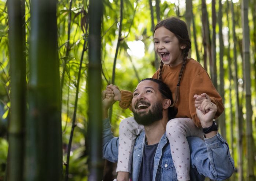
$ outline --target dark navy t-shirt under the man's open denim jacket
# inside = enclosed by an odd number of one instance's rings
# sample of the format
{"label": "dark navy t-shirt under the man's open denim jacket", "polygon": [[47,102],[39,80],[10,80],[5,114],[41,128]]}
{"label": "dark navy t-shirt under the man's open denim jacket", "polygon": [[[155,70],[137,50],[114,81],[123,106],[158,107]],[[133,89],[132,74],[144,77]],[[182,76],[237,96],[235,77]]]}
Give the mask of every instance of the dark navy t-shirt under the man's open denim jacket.
{"label": "dark navy t-shirt under the man's open denim jacket", "polygon": [[153,168],[154,168],[154,157],[157,151],[157,144],[145,145],[142,164],[140,166],[139,181],[152,181],[153,180]]}

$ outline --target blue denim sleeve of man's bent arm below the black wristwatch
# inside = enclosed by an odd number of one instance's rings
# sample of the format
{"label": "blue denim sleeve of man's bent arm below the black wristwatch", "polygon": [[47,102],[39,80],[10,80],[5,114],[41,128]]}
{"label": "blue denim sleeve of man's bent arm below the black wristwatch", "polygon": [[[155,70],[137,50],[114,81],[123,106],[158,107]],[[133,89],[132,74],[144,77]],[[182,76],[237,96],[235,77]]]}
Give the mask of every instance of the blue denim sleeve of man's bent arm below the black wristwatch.
{"label": "blue denim sleeve of man's bent arm below the black wristwatch", "polygon": [[191,152],[191,167],[212,180],[225,180],[234,173],[234,160],[225,139],[219,133],[205,142],[187,137]]}

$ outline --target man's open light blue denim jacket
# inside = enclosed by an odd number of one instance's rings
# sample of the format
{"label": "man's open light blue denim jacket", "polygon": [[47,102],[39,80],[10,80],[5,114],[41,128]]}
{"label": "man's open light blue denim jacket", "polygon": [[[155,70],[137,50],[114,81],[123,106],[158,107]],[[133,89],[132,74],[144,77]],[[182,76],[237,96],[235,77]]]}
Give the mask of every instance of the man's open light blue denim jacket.
{"label": "man's open light blue denim jacket", "polygon": [[[143,131],[135,141],[132,181],[138,181],[139,178],[145,139],[146,134]],[[212,138],[205,138],[205,142],[197,137],[187,137],[187,139],[191,153],[191,181],[204,181],[205,177],[212,180],[225,180],[232,175],[234,161],[225,139],[219,133]],[[111,162],[118,160],[118,137],[113,136],[108,118],[103,120],[103,158]],[[163,134],[155,153],[153,181],[177,181],[166,134]]]}

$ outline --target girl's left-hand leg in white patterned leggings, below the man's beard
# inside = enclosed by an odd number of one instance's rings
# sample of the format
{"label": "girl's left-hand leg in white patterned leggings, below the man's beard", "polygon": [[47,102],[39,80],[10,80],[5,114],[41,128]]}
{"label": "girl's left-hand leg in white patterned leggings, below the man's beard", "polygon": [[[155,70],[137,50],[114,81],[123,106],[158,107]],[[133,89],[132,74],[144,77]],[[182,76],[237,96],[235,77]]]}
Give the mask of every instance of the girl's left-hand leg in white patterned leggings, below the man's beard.
{"label": "girl's left-hand leg in white patterned leggings, below the man's beard", "polygon": [[144,130],[133,117],[125,118],[119,125],[118,162],[116,172],[131,173],[132,151],[137,135]]}

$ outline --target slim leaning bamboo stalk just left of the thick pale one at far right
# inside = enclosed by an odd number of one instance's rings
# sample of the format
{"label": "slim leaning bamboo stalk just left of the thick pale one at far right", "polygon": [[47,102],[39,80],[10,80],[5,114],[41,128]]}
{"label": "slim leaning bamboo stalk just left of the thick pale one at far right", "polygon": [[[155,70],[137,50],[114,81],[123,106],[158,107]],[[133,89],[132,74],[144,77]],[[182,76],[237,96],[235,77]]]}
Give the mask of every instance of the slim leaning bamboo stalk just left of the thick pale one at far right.
{"label": "slim leaning bamboo stalk just left of the thick pale one at far right", "polygon": [[235,19],[234,19],[234,4],[231,2],[231,13],[232,13],[232,31],[233,31],[233,42],[234,42],[234,66],[235,66],[235,76],[234,76],[234,86],[236,90],[236,125],[237,125],[237,150],[238,150],[238,181],[243,181],[243,149],[242,149],[242,131],[243,131],[243,118],[241,114],[239,93],[238,93],[238,75],[237,75],[237,49],[236,49],[236,31],[235,31]]}

